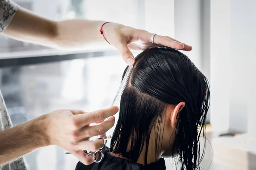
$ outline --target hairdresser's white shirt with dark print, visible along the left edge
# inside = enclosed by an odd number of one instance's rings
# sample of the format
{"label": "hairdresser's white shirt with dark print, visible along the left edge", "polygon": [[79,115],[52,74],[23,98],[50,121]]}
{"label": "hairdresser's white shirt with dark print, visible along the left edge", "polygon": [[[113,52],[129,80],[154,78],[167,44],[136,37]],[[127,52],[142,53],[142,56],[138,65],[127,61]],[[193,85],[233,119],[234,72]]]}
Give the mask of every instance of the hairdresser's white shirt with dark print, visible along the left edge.
{"label": "hairdresser's white shirt with dark print, visible along the left edge", "polygon": [[[0,0],[0,33],[9,25],[19,6],[9,0]],[[0,91],[0,131],[12,127],[12,121]],[[1,137],[1,136],[0,136]],[[0,167],[0,170],[29,170],[23,157]]]}

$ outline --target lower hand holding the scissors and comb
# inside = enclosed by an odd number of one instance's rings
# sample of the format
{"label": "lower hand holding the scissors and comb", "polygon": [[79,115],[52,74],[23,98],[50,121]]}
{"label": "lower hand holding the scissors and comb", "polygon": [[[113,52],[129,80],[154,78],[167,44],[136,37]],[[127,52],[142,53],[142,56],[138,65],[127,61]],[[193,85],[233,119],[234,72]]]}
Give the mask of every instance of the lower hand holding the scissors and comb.
{"label": "lower hand holding the scissors and comb", "polygon": [[[113,127],[114,114],[118,107],[112,106],[107,109],[85,113],[81,110],[58,110],[47,115],[47,136],[50,144],[56,144],[76,156],[83,164],[91,164],[92,156],[84,153],[99,150],[103,145],[102,139],[90,141],[90,137],[104,136]],[[105,120],[108,118],[108,120]],[[104,121],[105,120],[105,121]],[[91,123],[100,123],[90,126]]]}

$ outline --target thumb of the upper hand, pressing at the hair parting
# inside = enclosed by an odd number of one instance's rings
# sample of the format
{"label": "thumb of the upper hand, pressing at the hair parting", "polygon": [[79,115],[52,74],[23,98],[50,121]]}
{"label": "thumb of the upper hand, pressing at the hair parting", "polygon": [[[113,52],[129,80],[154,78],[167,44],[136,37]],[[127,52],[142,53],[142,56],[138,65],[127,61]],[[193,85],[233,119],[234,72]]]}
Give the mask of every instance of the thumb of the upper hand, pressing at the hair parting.
{"label": "thumb of the upper hand, pressing at the hair parting", "polygon": [[116,49],[121,54],[123,60],[126,62],[127,65],[133,65],[135,62],[134,56],[127,47],[127,42],[125,40],[122,40],[120,42],[117,42],[115,45]]}

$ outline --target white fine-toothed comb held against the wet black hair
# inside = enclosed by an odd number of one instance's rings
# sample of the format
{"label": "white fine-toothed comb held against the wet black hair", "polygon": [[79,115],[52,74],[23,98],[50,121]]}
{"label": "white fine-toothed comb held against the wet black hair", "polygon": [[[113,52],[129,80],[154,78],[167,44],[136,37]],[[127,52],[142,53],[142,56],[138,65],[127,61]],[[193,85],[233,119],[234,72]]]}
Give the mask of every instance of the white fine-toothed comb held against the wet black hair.
{"label": "white fine-toothed comb held against the wet black hair", "polygon": [[117,102],[121,99],[121,96],[122,96],[122,94],[123,94],[123,92],[125,90],[125,87],[126,87],[127,83],[128,83],[128,79],[131,76],[132,68],[133,68],[132,65],[128,67],[128,69],[127,69],[127,71],[125,73],[125,76],[122,79],[121,85],[120,85],[120,87],[119,87],[119,89],[118,89],[118,91],[116,93],[116,96],[115,96],[115,98],[113,100],[112,106],[117,105]]}

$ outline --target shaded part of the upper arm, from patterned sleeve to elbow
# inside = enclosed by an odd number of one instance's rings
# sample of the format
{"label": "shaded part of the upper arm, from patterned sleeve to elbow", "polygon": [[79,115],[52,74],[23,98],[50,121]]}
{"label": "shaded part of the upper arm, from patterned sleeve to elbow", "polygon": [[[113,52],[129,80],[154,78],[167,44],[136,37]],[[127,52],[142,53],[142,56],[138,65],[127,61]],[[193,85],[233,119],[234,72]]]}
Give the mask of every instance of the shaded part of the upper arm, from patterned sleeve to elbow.
{"label": "shaded part of the upper arm, from patterned sleeve to elbow", "polygon": [[23,42],[56,47],[52,38],[56,36],[55,22],[19,8],[11,23],[3,31],[7,37]]}

